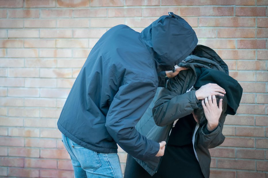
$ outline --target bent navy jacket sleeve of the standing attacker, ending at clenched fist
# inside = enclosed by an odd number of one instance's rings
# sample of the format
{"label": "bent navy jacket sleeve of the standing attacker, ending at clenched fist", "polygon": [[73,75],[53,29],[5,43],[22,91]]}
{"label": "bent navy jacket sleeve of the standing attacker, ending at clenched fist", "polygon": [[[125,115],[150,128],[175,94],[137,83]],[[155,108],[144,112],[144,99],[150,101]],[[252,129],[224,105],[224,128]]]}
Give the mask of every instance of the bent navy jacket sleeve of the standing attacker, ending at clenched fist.
{"label": "bent navy jacket sleeve of the standing attacker, ending at clenched fist", "polygon": [[159,151],[159,143],[146,139],[135,125],[150,105],[157,86],[154,81],[135,77],[120,86],[106,116],[106,128],[114,141],[131,156],[146,160]]}

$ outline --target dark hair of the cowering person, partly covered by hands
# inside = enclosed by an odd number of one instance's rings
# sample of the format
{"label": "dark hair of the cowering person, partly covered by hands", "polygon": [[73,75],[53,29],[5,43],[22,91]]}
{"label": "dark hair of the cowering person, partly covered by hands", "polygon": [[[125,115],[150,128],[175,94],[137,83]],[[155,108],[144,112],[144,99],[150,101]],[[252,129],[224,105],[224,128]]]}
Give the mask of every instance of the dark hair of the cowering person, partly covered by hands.
{"label": "dark hair of the cowering person, partly covered by hands", "polygon": [[[220,99],[222,99],[222,113],[221,113],[221,116],[222,116],[227,109],[227,97],[226,95],[224,96],[216,95],[217,106],[219,106]],[[206,120],[206,116],[205,116],[204,109],[202,106],[202,100],[199,100],[199,103],[197,103],[197,106],[198,108],[194,109],[194,115],[196,116],[196,119],[198,120],[199,126],[202,127],[204,124],[208,122]]]}

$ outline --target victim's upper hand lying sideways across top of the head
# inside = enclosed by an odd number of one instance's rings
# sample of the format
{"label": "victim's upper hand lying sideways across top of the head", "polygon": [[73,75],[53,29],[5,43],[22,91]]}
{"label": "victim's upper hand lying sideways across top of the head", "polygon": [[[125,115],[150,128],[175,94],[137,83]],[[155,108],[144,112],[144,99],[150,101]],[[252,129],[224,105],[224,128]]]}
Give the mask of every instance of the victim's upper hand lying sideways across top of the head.
{"label": "victim's upper hand lying sideways across top of the head", "polygon": [[209,95],[220,95],[220,96],[224,96],[224,94],[226,93],[225,90],[223,88],[221,88],[219,85],[217,84],[206,84],[201,86],[198,90],[196,90],[196,98],[198,100],[200,99],[205,99],[207,98]]}

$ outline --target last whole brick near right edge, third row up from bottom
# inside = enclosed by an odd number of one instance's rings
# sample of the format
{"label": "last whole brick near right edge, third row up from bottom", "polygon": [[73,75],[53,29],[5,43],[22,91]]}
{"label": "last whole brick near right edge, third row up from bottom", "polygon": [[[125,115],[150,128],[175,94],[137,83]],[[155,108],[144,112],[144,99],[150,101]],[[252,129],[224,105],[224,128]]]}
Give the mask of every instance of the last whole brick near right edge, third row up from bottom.
{"label": "last whole brick near right edge, third row up from bottom", "polygon": [[237,149],[236,158],[261,159],[264,160],[264,150]]}

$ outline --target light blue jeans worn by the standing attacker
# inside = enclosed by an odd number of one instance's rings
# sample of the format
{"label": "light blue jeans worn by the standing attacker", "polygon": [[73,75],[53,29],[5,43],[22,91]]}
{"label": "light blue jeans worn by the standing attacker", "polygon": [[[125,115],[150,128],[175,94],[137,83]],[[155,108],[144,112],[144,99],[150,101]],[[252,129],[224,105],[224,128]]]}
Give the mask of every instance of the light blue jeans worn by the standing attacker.
{"label": "light blue jeans worn by the standing attacker", "polygon": [[122,178],[119,157],[116,153],[97,153],[78,145],[62,134],[62,142],[70,154],[76,178]]}

